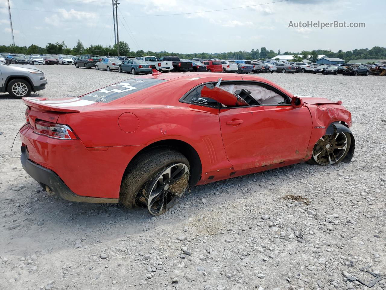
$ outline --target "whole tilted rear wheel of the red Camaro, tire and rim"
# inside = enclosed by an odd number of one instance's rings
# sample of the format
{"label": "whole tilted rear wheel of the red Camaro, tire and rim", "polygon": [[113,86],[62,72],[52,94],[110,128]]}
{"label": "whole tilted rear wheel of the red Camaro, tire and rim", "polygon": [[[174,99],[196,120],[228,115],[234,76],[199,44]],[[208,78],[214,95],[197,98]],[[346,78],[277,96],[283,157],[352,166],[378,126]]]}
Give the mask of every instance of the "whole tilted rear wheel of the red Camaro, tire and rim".
{"label": "whole tilted rear wheel of the red Camaro, tire and rim", "polygon": [[124,177],[120,201],[126,207],[146,206],[152,215],[172,208],[188,188],[189,162],[169,148],[142,154]]}

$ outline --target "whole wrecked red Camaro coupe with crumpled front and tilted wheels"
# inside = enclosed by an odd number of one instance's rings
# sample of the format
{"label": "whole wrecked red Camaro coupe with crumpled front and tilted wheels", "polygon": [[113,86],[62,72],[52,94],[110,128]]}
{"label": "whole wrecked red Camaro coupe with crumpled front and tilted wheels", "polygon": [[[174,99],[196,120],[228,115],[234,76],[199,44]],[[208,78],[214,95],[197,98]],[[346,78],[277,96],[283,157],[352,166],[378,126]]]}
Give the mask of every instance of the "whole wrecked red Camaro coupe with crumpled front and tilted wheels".
{"label": "whole wrecked red Camaro coupe with crumpled front and tilted wheels", "polygon": [[46,191],[152,215],[189,186],[354,154],[342,102],[249,75],[154,71],[76,98],[23,101],[21,162]]}

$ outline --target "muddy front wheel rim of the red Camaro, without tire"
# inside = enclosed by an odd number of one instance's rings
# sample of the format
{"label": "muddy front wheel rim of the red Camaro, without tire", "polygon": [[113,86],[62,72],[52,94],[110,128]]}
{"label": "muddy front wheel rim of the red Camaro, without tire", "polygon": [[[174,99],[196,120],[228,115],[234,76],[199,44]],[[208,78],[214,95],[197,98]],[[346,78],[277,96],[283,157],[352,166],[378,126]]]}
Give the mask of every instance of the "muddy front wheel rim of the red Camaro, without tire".
{"label": "muddy front wheel rim of the red Camaro, without tire", "polygon": [[346,134],[336,132],[318,140],[313,148],[312,158],[320,165],[331,165],[340,161],[348,149]]}

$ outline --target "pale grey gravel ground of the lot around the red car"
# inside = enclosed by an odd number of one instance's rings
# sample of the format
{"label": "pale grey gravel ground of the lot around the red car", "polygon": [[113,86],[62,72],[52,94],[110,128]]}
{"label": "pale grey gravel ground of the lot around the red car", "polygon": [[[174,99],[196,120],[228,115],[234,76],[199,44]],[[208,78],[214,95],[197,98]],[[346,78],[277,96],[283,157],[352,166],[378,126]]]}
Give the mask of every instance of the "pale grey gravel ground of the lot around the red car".
{"label": "pale grey gravel ground of the lot around the red car", "polygon": [[[32,96],[49,98],[132,77],[39,68],[48,85]],[[372,289],[386,289],[385,78],[260,76],[294,94],[342,100],[353,116],[352,162],[198,186],[157,218],[41,191],[20,165],[19,138],[10,151],[25,105],[1,95],[0,289],[367,289],[347,276],[381,277]]]}

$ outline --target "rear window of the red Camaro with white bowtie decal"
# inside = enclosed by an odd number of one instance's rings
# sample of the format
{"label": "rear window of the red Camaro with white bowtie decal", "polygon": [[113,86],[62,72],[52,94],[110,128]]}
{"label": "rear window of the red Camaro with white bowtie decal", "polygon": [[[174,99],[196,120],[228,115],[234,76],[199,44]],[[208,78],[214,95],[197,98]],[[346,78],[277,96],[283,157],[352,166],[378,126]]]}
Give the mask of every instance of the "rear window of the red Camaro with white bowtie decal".
{"label": "rear window of the red Camaro with white bowtie decal", "polygon": [[166,80],[156,78],[129,78],[128,80],[109,85],[79,98],[88,101],[108,103],[163,82],[166,82]]}

